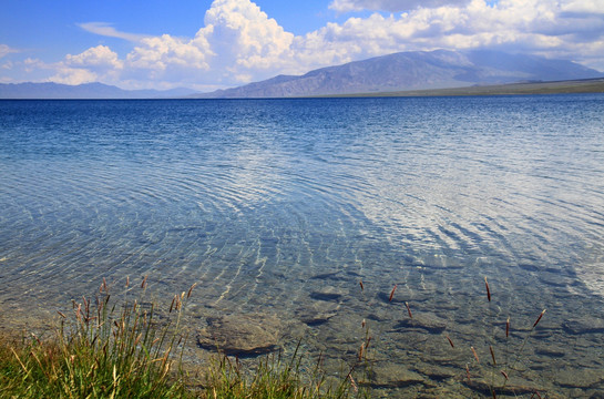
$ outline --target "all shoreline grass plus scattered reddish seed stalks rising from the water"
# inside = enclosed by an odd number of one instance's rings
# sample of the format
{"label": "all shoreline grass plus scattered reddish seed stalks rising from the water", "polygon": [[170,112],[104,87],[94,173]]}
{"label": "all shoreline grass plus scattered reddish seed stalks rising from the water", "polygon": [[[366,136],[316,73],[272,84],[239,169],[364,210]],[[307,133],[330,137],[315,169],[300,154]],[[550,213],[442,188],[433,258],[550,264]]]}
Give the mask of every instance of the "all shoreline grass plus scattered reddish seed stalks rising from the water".
{"label": "all shoreline grass plus scattered reddish seed stalks rising from the water", "polygon": [[[359,280],[361,291],[365,289]],[[72,311],[58,311],[59,326],[49,339],[28,332],[27,338],[0,336],[0,398],[370,398],[375,361],[371,334],[364,319],[360,346],[351,348],[356,360],[342,361],[337,376],[323,368],[323,355],[307,359],[300,338],[293,352],[260,356],[252,362],[217,354],[204,365],[187,365],[183,355],[190,336],[184,321],[187,301],[195,284],[174,295],[170,306],[158,306],[149,295],[146,277],[113,295],[105,279],[94,298],[72,300]],[[397,285],[387,303],[392,304]],[[485,299],[491,309],[491,289],[484,277]],[[165,298],[164,298],[165,299]],[[409,320],[412,305],[405,303]],[[491,338],[487,359],[465,364],[459,388],[470,389],[472,397],[530,397],[546,395],[543,387],[512,385],[522,374],[519,361],[526,360],[523,349],[545,314],[519,331],[523,338],[511,344],[511,324],[491,314],[492,326],[504,326]],[[491,318],[491,317],[490,317]],[[502,335],[504,334],[504,338]],[[451,338],[453,337],[453,338]],[[443,335],[443,347],[455,348],[454,336]],[[499,341],[499,342],[498,342]],[[504,350],[498,348],[504,344]],[[518,345],[516,345],[518,344]],[[475,344],[474,344],[475,345]],[[511,347],[515,349],[511,350]],[[478,348],[478,347],[477,347]],[[502,361],[501,355],[505,354]],[[308,360],[313,360],[310,364]],[[304,362],[303,362],[304,361]],[[314,366],[313,366],[314,365]],[[452,392],[450,392],[452,393]]]}

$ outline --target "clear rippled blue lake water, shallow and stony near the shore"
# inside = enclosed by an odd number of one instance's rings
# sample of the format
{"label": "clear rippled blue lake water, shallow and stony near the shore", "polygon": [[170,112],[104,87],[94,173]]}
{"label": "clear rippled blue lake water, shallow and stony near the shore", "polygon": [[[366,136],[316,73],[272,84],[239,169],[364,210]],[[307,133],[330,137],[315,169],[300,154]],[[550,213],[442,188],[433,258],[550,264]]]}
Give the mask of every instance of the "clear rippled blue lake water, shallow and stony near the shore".
{"label": "clear rippled blue lake water, shallow and stony near the shore", "polygon": [[192,324],[270,313],[350,361],[365,318],[376,395],[436,396],[469,389],[492,320],[547,308],[515,383],[604,389],[602,95],[2,101],[0,209],[2,318],[198,282]]}

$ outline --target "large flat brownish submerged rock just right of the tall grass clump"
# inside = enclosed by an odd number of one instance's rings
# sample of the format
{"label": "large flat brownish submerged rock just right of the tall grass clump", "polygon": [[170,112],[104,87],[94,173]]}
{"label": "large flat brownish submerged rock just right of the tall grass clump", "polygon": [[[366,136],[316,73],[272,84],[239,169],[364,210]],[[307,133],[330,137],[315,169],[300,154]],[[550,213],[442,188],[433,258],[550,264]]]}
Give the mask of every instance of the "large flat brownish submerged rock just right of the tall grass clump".
{"label": "large flat brownish submerged rock just right of the tall grass clump", "polygon": [[226,355],[254,356],[277,349],[281,323],[273,315],[208,317],[197,334],[197,344]]}

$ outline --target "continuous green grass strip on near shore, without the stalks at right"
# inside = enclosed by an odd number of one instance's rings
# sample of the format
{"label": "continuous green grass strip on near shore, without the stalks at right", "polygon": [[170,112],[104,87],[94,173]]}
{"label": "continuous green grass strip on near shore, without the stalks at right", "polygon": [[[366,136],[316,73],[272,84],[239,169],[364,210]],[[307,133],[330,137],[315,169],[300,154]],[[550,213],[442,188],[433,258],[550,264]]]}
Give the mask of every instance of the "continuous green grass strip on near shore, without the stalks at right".
{"label": "continuous green grass strip on near shore, without the stalks at right", "polygon": [[301,372],[299,345],[290,360],[262,357],[253,370],[218,355],[197,370],[201,380],[193,379],[183,369],[181,326],[193,287],[162,313],[145,298],[145,288],[146,280],[126,283],[126,294],[112,300],[103,280],[94,299],[73,301],[70,315],[60,313],[50,339],[0,338],[0,398],[368,397],[352,382],[352,370],[336,382],[328,382],[320,361]]}

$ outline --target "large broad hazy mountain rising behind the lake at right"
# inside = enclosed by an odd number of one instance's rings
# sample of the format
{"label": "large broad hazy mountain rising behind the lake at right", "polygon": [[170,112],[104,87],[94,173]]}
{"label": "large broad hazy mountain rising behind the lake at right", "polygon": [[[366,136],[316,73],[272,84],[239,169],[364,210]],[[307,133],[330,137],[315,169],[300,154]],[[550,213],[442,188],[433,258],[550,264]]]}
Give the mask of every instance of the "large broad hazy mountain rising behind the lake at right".
{"label": "large broad hazy mountain rising behind the lake at right", "polygon": [[278,75],[196,98],[287,98],[462,88],[528,81],[602,78],[604,73],[564,60],[498,51],[416,51]]}

